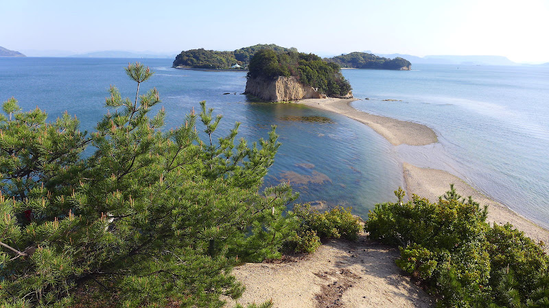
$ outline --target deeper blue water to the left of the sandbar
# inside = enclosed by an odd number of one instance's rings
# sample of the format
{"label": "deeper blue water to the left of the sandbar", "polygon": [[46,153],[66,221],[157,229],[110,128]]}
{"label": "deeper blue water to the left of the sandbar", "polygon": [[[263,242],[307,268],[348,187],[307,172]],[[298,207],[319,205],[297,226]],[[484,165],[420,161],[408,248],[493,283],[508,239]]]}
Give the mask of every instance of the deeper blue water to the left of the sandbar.
{"label": "deeper blue water to the left of the sandbar", "polygon": [[[240,136],[251,142],[267,138],[271,125],[277,125],[282,146],[265,183],[290,180],[300,193],[298,202],[352,206],[365,216],[375,203],[394,200],[393,190],[404,185],[395,149],[369,127],[303,105],[248,101],[240,94],[246,84],[242,72],[177,70],[169,59],[0,57],[0,101],[15,97],[23,110],[45,109],[49,120],[67,111],[80,119],[82,129],[93,131],[106,113],[110,84],[135,97],[135,83],[124,72],[135,61],[156,72],[141,85],[141,93],[159,90],[167,112],[165,129],[182,125],[200,101],[224,116],[218,136],[240,121]],[[325,116],[334,123],[294,120],[301,116]]]}

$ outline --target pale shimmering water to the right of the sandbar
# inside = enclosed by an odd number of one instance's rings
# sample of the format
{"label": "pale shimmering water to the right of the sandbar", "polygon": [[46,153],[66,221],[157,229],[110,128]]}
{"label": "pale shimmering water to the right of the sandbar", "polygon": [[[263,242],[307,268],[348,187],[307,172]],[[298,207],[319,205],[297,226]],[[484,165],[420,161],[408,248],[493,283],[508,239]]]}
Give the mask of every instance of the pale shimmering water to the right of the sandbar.
{"label": "pale shimmering water to the right of the sandbar", "polygon": [[549,227],[549,67],[413,68],[345,70],[362,99],[353,107],[428,125],[440,143],[397,146],[400,159],[452,172]]}

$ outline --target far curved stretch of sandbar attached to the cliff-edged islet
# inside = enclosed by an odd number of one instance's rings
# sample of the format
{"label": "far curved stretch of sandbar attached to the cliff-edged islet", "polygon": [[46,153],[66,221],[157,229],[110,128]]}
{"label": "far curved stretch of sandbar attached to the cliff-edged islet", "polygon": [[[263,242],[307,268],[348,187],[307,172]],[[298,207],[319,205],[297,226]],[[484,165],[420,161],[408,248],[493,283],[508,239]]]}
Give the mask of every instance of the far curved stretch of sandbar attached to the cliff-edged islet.
{"label": "far curved stretch of sandbar attached to the cliff-edged islet", "polygon": [[379,135],[384,136],[395,146],[399,144],[421,146],[437,142],[436,133],[423,124],[361,112],[351,107],[352,101],[357,101],[357,99],[303,99],[296,103],[336,112],[353,120],[358,120],[358,122],[371,127]]}

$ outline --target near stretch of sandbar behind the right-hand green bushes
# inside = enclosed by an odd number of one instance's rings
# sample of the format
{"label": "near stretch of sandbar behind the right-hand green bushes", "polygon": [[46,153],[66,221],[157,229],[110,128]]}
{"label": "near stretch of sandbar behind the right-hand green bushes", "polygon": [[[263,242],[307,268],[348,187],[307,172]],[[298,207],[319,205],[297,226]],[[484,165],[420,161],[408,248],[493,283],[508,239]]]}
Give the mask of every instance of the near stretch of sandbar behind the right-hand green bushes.
{"label": "near stretch of sandbar behind the right-hand green bushes", "polygon": [[[471,188],[471,186],[462,179],[451,175],[443,170],[418,168],[410,164],[404,163],[404,179],[406,180],[406,190],[409,194],[417,194],[430,201],[439,200],[447,190],[449,185],[454,184],[458,194],[462,196],[472,196],[474,201],[480,205],[488,205],[488,221],[497,224],[505,224],[510,222],[513,227],[524,231],[524,234],[535,242],[543,241],[549,244],[549,231],[539,227],[534,222],[511,211],[508,207],[493,201],[491,198],[484,196],[480,192]],[[545,247],[549,253],[549,246]]]}

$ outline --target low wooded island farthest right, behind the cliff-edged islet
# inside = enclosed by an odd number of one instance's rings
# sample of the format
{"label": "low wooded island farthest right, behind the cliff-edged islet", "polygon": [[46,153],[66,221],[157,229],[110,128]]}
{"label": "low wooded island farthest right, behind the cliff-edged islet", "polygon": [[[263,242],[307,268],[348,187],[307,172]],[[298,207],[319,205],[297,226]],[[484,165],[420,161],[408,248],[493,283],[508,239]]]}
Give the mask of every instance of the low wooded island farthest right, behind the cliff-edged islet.
{"label": "low wooded island farthest right, behind the cliff-edged islet", "polygon": [[340,67],[346,68],[373,68],[383,70],[399,70],[403,67],[409,67],[412,64],[410,61],[401,57],[388,59],[386,57],[378,57],[372,53],[348,53],[346,55],[338,55],[336,57],[325,58],[327,62],[333,62]]}

